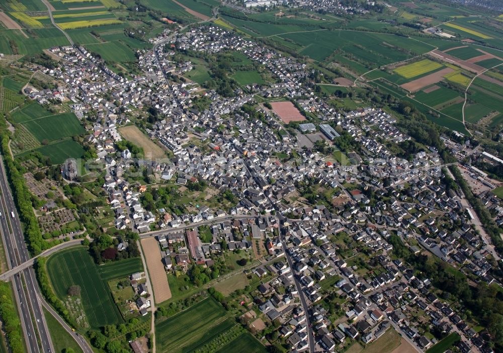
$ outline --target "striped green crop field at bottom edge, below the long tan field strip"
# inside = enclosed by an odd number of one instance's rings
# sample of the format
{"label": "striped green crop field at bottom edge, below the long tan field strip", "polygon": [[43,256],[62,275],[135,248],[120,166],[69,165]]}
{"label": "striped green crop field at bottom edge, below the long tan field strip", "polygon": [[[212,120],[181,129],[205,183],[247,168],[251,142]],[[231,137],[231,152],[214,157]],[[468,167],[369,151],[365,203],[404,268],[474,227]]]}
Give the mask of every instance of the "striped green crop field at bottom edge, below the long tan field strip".
{"label": "striped green crop field at bottom edge, below the long tan field strip", "polygon": [[191,352],[236,325],[213,298],[206,298],[155,326],[157,351]]}

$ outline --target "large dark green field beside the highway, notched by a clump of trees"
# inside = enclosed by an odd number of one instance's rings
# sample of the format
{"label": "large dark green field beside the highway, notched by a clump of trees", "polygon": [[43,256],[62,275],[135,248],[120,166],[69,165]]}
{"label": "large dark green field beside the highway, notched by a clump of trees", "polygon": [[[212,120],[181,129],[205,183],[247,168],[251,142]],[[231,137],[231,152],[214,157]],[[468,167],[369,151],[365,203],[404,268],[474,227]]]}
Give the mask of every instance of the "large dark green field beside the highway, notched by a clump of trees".
{"label": "large dark green field beside the highway, notched by a clump of trees", "polygon": [[122,322],[87,247],[71,247],[52,255],[47,260],[47,273],[56,295],[62,300],[71,285],[80,286],[82,305],[92,327]]}

